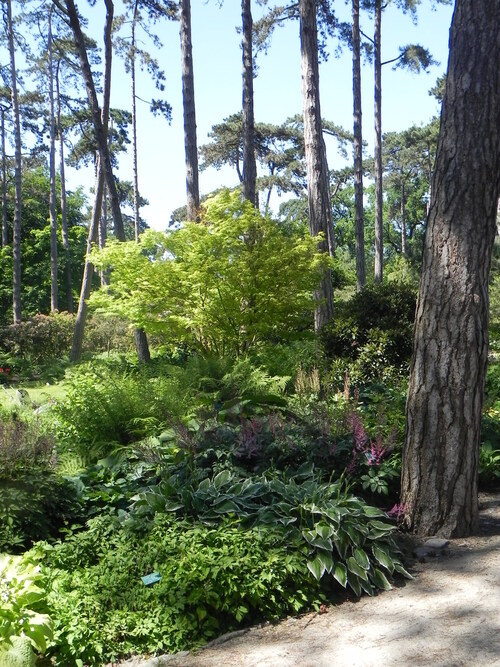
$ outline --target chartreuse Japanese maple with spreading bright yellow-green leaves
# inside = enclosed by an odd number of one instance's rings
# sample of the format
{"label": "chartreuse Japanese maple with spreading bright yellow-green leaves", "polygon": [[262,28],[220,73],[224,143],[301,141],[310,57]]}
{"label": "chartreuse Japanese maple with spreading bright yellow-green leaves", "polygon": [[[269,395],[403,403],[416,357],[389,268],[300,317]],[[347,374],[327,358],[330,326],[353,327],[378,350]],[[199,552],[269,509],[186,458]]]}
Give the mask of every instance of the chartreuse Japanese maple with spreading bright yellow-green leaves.
{"label": "chartreuse Japanese maple with spreading bright yellow-green leaves", "polygon": [[312,317],[312,292],[330,260],[306,230],[290,234],[240,193],[208,200],[200,223],[93,255],[112,268],[94,305],[203,351],[241,354],[287,339]]}

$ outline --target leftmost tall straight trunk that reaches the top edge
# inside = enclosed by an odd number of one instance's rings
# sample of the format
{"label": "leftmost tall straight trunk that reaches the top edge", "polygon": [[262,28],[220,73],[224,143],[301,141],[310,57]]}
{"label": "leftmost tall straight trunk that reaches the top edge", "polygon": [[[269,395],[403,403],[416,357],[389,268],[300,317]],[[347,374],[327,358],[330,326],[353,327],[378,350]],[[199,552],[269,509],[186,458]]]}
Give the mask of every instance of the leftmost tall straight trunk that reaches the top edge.
{"label": "leftmost tall straight trunk that reaches the top edge", "polygon": [[12,114],[14,118],[14,229],[12,240],[13,284],[12,307],[14,324],[22,319],[21,305],[21,214],[22,214],[22,144],[21,144],[21,112],[17,95],[16,50],[14,46],[14,28],[12,25],[11,0],[4,2],[4,19],[9,44],[10,78],[12,95]]}

